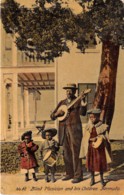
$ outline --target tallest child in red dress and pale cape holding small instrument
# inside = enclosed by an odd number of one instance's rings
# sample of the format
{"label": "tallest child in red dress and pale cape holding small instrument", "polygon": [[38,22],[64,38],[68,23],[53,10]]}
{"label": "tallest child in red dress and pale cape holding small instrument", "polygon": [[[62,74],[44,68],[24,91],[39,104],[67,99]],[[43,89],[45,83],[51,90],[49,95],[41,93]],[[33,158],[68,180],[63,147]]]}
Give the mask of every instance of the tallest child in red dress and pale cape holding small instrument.
{"label": "tallest child in red dress and pale cape holding small instrument", "polygon": [[108,125],[100,121],[100,109],[87,111],[90,122],[85,129],[81,144],[80,158],[86,155],[86,167],[91,172],[90,186],[95,184],[94,172],[100,173],[101,185],[105,186],[103,173],[107,171],[107,164],[111,162]]}

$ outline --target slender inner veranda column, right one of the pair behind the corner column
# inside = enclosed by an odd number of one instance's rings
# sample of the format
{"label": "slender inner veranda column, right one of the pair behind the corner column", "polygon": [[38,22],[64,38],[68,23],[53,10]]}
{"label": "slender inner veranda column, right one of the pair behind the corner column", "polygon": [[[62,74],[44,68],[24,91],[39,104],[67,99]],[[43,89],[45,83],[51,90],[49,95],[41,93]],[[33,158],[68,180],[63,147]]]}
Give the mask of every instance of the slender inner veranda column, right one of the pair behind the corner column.
{"label": "slender inner veranda column, right one of the pair behind the corner column", "polygon": [[29,126],[29,92],[28,89],[24,89],[24,109],[25,109],[25,123],[26,127]]}

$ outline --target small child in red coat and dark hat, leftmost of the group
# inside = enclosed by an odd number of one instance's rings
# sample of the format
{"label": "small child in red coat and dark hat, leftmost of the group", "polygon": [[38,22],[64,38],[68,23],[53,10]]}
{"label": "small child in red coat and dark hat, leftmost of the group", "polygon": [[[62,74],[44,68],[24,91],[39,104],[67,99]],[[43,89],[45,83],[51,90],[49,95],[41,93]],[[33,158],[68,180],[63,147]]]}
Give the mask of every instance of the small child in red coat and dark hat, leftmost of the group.
{"label": "small child in red coat and dark hat, leftmost of the group", "polygon": [[22,143],[18,146],[18,152],[21,157],[21,171],[25,173],[25,181],[29,181],[29,172],[32,173],[34,181],[37,181],[35,172],[38,163],[35,157],[35,152],[38,150],[32,140],[32,131],[27,131],[21,136]]}

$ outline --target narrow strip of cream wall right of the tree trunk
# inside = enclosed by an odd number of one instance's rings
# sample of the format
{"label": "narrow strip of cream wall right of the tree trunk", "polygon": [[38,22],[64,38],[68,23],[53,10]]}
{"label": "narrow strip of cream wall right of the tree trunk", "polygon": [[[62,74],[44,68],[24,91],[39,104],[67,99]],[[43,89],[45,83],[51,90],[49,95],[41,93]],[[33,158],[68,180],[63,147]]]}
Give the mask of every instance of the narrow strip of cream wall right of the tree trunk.
{"label": "narrow strip of cream wall right of the tree trunk", "polygon": [[124,50],[120,50],[115,104],[110,138],[124,139]]}

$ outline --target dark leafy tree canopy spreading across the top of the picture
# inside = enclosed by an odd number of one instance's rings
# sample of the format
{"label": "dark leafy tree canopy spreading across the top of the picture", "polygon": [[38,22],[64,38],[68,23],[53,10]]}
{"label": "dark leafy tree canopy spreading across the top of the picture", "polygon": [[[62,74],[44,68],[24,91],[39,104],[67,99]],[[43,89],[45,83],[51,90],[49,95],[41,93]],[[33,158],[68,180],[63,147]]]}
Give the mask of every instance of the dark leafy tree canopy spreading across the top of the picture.
{"label": "dark leafy tree canopy spreading across the top of the picture", "polygon": [[[45,3],[54,3],[49,9]],[[83,12],[73,14],[62,8],[58,0],[36,0],[28,9],[14,0],[2,4],[2,22],[7,33],[18,34],[18,49],[29,57],[53,60],[69,52],[68,41],[75,41],[85,52],[89,43],[97,44],[95,36],[115,45],[124,45],[124,4],[120,0],[80,0]],[[88,3],[88,4],[86,4]]]}

